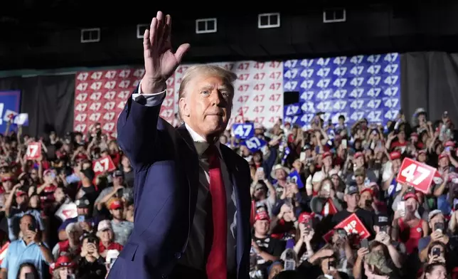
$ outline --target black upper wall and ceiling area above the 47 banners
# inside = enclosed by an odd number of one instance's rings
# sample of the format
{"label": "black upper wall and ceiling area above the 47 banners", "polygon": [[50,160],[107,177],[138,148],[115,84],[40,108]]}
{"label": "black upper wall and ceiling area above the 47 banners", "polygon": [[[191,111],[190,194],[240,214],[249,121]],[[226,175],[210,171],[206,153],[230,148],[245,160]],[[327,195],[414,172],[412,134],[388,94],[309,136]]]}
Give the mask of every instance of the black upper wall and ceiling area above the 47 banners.
{"label": "black upper wall and ceiling area above the 47 banners", "polygon": [[[398,2],[8,1],[0,6],[0,70],[142,63],[135,28],[158,9],[174,18],[174,43],[191,43],[188,61],[456,51],[458,4]],[[345,8],[346,22],[323,23],[329,7]],[[280,12],[282,26],[258,29],[265,12]],[[208,17],[218,18],[218,33],[196,35],[195,20]],[[102,29],[100,43],[80,43],[80,28],[92,27]]]}

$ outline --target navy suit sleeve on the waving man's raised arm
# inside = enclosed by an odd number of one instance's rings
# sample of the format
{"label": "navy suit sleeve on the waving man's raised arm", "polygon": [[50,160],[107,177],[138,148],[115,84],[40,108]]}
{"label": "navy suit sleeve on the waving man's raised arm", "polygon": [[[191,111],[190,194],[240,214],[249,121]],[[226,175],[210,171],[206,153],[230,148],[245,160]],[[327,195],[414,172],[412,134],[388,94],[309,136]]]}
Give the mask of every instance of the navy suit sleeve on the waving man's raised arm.
{"label": "navy suit sleeve on the waving man's raised arm", "polygon": [[[117,121],[119,147],[127,154],[136,171],[151,164],[156,146],[157,122],[166,93],[150,96],[139,95],[139,86],[127,99],[127,103]],[[134,98],[136,98],[134,100]]]}

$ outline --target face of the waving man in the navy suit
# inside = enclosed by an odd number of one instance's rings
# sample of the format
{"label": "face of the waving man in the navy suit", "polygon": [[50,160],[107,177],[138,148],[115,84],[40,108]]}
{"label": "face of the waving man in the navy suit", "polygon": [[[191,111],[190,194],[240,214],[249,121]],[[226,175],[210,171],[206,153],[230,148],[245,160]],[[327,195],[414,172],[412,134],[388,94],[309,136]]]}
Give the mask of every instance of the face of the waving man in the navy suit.
{"label": "face of the waving man in the navy suit", "polygon": [[233,105],[230,86],[219,77],[198,75],[186,86],[180,108],[184,120],[203,137],[221,135]]}

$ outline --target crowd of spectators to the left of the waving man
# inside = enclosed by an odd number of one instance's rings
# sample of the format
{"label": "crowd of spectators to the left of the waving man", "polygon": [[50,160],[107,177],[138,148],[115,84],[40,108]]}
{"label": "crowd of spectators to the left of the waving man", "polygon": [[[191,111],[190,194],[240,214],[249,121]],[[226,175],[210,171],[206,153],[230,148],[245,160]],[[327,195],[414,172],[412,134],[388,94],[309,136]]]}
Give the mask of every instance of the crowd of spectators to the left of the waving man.
{"label": "crowd of spectators to the left of the waving man", "polygon": [[[40,139],[21,130],[0,138],[0,278],[105,278],[134,227],[129,159],[99,124]],[[107,156],[115,169],[95,172]]]}

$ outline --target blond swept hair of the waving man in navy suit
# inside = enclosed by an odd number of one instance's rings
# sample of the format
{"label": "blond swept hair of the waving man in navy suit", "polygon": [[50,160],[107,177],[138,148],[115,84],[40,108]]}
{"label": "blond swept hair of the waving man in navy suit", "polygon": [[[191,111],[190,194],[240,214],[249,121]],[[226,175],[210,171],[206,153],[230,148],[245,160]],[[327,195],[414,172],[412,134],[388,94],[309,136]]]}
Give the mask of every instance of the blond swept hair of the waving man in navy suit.
{"label": "blond swept hair of the waving man in navy suit", "polygon": [[[184,97],[185,90],[186,90],[186,85],[195,78],[198,75],[208,75],[208,76],[215,76],[218,78],[221,78],[223,80],[223,83],[228,87],[228,90],[230,90],[230,95],[231,98],[234,96],[234,81],[237,79],[237,75],[235,73],[231,72],[230,70],[226,70],[223,67],[220,67],[218,65],[194,65],[188,68],[186,72],[183,75],[183,78],[181,79],[181,84],[180,88],[178,91],[178,100],[181,100],[181,98]],[[178,115],[183,120],[183,117],[181,116],[181,107],[178,107]]]}

